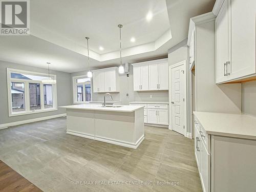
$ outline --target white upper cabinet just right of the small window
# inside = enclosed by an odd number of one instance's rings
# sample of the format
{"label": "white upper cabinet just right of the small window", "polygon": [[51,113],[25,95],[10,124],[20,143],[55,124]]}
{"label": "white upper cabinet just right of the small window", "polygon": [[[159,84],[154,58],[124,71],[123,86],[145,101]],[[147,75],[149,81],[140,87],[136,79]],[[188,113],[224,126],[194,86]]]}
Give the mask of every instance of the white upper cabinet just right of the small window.
{"label": "white upper cabinet just right of the small window", "polygon": [[93,92],[119,92],[118,68],[105,68],[93,71]]}

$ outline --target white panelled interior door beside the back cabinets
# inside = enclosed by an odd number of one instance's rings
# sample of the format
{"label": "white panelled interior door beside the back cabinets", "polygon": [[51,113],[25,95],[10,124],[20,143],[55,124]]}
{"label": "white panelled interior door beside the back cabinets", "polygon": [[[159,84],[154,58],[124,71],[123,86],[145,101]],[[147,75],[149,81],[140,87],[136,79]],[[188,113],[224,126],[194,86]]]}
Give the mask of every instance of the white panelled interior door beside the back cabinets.
{"label": "white panelled interior door beside the back cabinets", "polygon": [[185,61],[171,67],[172,130],[185,135]]}

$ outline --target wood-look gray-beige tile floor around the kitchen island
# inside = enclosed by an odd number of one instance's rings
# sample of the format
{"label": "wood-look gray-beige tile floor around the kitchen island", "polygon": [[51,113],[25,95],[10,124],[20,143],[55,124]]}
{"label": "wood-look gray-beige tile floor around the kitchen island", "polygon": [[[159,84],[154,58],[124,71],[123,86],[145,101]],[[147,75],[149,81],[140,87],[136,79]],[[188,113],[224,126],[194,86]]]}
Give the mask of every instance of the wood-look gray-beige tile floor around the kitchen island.
{"label": "wood-look gray-beige tile floor around the kitchen island", "polygon": [[145,126],[133,150],[66,134],[66,118],[0,130],[0,160],[43,191],[202,191],[194,140]]}

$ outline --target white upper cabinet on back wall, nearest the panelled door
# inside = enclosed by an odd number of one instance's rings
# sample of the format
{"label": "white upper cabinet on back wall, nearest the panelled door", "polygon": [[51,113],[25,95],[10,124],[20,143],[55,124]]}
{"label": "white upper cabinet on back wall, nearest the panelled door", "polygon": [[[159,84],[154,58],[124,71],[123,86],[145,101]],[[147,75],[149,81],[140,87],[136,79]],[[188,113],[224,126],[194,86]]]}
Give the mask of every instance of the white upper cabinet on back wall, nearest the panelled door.
{"label": "white upper cabinet on back wall, nearest the panelled door", "polygon": [[168,61],[133,63],[134,91],[168,90]]}

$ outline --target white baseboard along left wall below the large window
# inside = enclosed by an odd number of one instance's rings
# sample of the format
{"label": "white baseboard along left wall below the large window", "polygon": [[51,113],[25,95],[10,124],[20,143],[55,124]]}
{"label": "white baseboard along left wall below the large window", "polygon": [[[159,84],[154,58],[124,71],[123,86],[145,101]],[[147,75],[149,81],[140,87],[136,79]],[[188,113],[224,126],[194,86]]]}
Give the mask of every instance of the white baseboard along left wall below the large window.
{"label": "white baseboard along left wall below the large window", "polygon": [[42,121],[42,120],[53,119],[53,118],[57,118],[57,117],[65,117],[65,116],[67,116],[67,114],[62,113],[62,114],[58,114],[58,115],[39,117],[39,118],[35,118],[35,119],[27,119],[27,120],[23,120],[23,121],[15,121],[15,122],[11,122],[11,123],[4,123],[4,124],[0,124],[0,129],[6,129],[9,126],[32,123],[32,122],[36,122],[36,121]]}

